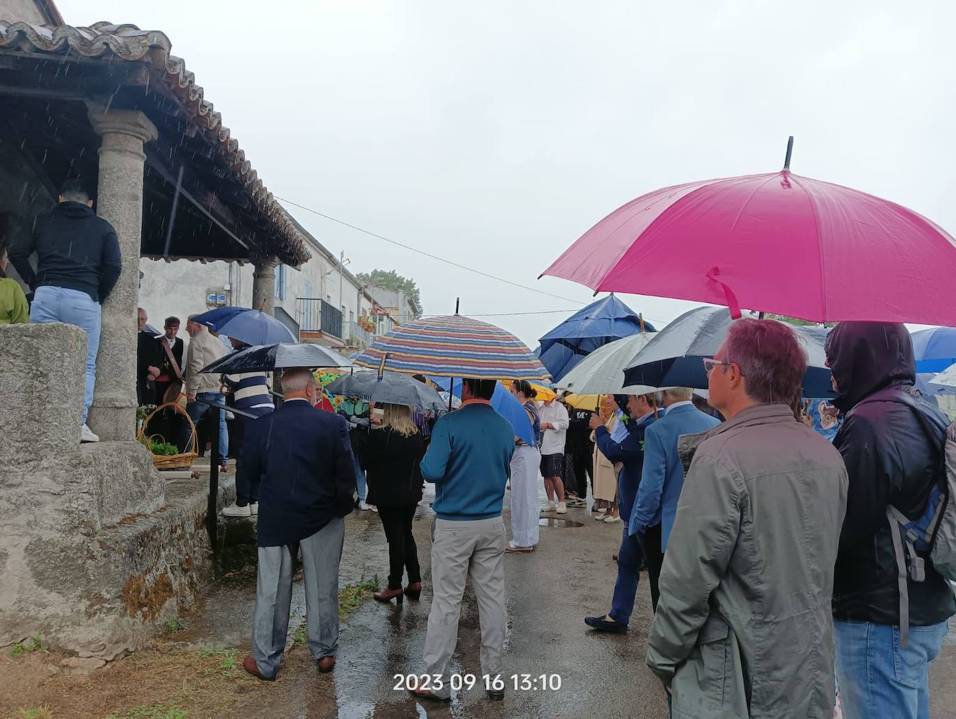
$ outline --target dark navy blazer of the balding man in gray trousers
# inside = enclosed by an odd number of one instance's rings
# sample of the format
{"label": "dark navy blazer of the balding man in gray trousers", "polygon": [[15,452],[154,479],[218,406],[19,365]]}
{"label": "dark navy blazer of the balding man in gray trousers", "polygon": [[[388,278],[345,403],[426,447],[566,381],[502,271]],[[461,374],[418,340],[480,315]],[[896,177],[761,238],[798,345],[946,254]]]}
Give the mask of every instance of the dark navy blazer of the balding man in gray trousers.
{"label": "dark navy blazer of the balding man in gray trousers", "polygon": [[355,462],[348,423],[291,400],[247,423],[245,471],[260,476],[260,547],[312,537],[352,511]]}

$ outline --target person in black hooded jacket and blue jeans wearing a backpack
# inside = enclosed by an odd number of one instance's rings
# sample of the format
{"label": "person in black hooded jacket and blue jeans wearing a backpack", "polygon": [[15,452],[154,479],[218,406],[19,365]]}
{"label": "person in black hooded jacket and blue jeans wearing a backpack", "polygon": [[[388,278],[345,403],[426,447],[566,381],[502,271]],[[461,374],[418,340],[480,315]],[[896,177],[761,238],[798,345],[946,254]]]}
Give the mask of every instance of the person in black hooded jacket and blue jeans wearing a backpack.
{"label": "person in black hooded jacket and blue jeans wearing a backpack", "polygon": [[[843,415],[834,446],[850,486],[836,557],[833,609],[836,674],[847,719],[929,716],[927,669],[939,653],[956,599],[925,558],[923,582],[907,578],[909,641],[902,646],[899,572],[886,507],[923,514],[941,480],[943,433],[927,434],[916,412],[945,416],[917,400],[913,345],[902,325],[843,322],[827,337],[827,363]],[[868,400],[863,402],[863,400]]]}

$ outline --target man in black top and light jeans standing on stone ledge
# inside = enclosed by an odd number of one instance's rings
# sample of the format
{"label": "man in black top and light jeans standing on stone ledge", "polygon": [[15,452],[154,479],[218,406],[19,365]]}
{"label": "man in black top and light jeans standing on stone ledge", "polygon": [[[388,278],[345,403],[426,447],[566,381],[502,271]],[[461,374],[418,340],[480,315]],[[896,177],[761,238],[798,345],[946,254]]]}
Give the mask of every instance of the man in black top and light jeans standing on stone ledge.
{"label": "man in black top and light jeans standing on stone ledge", "polygon": [[[30,257],[36,253],[36,269]],[[53,212],[36,218],[28,243],[11,248],[10,261],[33,290],[30,321],[64,322],[86,332],[86,387],[81,442],[98,442],[86,426],[97,380],[100,305],[120,279],[120,243],[113,225],[93,211],[79,180],[63,183]]]}

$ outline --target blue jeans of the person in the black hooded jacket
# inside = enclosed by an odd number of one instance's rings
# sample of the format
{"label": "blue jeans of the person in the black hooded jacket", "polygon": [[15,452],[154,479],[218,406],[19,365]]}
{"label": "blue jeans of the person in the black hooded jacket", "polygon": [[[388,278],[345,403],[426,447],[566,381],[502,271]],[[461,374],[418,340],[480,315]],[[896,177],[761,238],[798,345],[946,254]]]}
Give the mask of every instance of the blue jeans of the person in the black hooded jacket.
{"label": "blue jeans of the person in the black hooded jacket", "polygon": [[846,719],[929,719],[927,670],[936,659],[948,622],[909,627],[900,648],[900,627],[834,622],[836,679]]}

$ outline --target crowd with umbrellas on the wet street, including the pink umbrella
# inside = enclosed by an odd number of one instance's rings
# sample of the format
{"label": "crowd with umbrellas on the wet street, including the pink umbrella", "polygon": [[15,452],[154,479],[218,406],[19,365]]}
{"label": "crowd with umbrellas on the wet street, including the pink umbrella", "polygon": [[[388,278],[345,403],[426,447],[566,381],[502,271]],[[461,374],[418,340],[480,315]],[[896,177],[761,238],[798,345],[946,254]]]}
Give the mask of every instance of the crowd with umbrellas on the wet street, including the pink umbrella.
{"label": "crowd with umbrellas on the wet street, including the pink umbrella", "polygon": [[[504,698],[503,558],[533,561],[541,513],[570,508],[622,530],[610,608],[585,618],[589,631],[629,635],[646,572],[646,661],[674,716],[927,717],[927,669],[956,613],[956,430],[939,407],[956,388],[956,310],[940,301],[956,242],[787,165],[629,202],[545,272],[709,305],[663,328],[611,294],[537,352],[455,314],[402,325],[351,360],[278,344],[207,367],[237,386],[285,369],[286,401],[250,422],[239,461],[258,497],[236,506],[261,501],[247,670],[269,680],[281,665],[296,546],[309,645],[334,668],[329,576],[358,495],[378,505],[389,545],[376,599],[431,602],[407,688],[434,701],[464,690],[450,666],[469,577],[480,687]],[[324,391],[319,368],[338,372]],[[323,393],[342,402],[318,422],[295,400]],[[299,466],[296,446],[311,442],[326,454]],[[424,483],[435,485],[430,575],[412,533],[416,512],[430,517],[417,509]]]}

